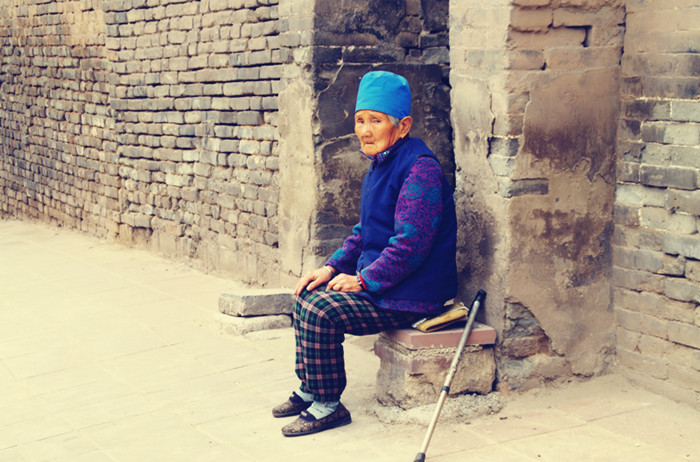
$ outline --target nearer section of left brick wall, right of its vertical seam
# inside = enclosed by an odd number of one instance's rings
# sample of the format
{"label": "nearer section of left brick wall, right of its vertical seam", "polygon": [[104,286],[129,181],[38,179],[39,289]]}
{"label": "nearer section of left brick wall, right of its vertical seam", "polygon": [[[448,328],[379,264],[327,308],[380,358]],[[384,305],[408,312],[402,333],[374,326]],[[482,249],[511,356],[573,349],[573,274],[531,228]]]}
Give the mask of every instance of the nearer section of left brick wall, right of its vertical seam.
{"label": "nearer section of left brick wall, right of its vertical seam", "polygon": [[113,0],[104,17],[120,235],[272,279],[286,57],[277,2]]}

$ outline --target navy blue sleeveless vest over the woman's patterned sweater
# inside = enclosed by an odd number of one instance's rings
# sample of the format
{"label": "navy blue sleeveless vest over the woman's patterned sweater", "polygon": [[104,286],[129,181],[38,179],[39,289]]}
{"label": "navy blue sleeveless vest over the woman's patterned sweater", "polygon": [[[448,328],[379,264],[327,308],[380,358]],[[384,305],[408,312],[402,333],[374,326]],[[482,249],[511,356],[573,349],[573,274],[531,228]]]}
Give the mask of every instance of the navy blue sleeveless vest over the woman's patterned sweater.
{"label": "navy blue sleeveless vest over the woman's patterned sweater", "polygon": [[[394,212],[399,192],[419,157],[435,154],[418,138],[406,138],[394,146],[389,157],[373,162],[362,183],[362,254],[360,271],[379,257],[396,234]],[[452,189],[442,176],[443,216],[437,239],[428,258],[408,278],[377,298],[445,302],[457,294],[457,218]]]}

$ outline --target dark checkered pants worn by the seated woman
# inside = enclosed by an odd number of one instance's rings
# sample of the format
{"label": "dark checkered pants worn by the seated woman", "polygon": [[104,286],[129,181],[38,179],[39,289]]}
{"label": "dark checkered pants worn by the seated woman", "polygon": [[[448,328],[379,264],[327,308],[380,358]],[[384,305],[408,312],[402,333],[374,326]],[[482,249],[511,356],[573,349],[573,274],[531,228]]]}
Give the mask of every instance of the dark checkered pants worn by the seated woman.
{"label": "dark checkered pants worn by the seated woman", "polygon": [[345,334],[376,334],[406,327],[421,317],[382,310],[353,293],[305,290],[294,302],[296,374],[302,391],[313,393],[317,401],[339,401],[347,384]]}

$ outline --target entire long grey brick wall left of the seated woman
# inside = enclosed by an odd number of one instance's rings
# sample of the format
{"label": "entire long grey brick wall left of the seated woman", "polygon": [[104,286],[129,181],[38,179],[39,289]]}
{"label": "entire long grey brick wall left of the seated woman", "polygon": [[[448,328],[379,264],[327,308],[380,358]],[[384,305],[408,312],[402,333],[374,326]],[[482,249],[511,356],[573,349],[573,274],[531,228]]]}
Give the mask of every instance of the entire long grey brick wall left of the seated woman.
{"label": "entire long grey brick wall left of the seated woman", "polygon": [[274,281],[277,2],[0,6],[3,213]]}

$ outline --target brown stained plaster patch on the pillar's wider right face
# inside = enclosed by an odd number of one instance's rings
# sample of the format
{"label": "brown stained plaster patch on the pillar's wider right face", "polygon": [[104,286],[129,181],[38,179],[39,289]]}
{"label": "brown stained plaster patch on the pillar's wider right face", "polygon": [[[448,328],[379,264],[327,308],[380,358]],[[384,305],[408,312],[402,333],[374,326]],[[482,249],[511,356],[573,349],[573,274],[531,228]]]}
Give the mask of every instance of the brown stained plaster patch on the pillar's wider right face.
{"label": "brown stained plaster patch on the pillar's wider right face", "polygon": [[509,299],[540,319],[552,352],[573,373],[590,375],[608,367],[613,348],[617,76],[614,69],[562,72],[541,85],[530,90],[513,176],[547,189],[511,199]]}

